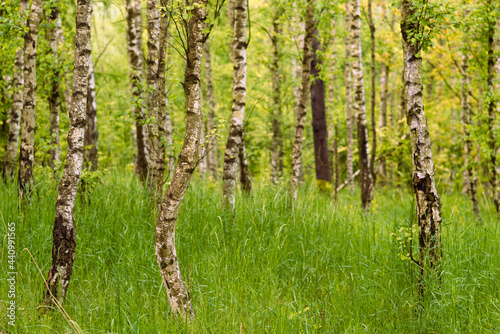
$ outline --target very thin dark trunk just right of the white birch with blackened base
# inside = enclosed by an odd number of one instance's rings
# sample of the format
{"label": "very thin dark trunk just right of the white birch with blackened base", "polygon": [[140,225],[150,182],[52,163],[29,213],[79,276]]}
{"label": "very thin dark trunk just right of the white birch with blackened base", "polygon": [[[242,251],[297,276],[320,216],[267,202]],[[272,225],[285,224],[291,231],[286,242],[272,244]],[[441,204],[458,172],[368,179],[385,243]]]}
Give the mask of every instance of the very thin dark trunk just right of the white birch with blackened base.
{"label": "very thin dark trunk just right of the white birch with blackened base", "polygon": [[373,187],[376,184],[377,180],[377,174],[375,173],[375,156],[377,153],[377,123],[375,120],[375,103],[376,103],[376,83],[375,83],[375,24],[373,23],[373,16],[372,16],[372,1],[368,0],[368,25],[370,26],[370,51],[371,51],[371,58],[370,58],[370,75],[371,75],[371,103],[370,103],[370,109],[371,109],[371,127],[372,127],[372,151],[371,151],[371,157],[370,157],[370,173],[372,174],[372,183]]}

